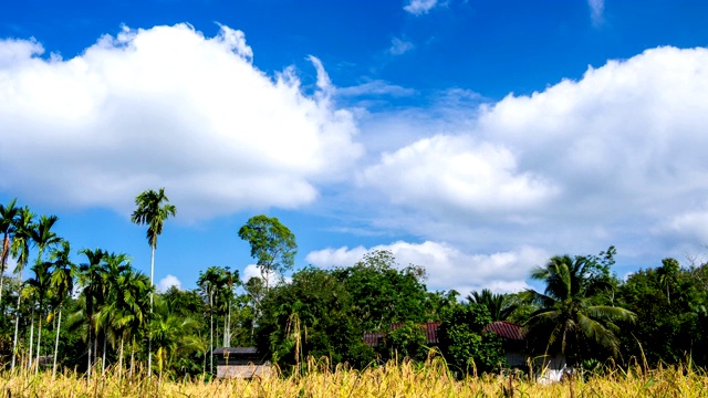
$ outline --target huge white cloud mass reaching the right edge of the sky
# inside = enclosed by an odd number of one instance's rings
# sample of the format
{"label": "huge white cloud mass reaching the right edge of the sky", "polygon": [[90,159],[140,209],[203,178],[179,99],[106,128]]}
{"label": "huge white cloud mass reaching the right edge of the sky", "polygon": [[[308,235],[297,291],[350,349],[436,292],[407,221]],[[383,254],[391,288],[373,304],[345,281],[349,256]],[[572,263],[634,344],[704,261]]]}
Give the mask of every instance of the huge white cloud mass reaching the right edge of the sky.
{"label": "huge white cloud mass reaching the right edge of the sky", "polygon": [[[707,49],[647,50],[532,95],[449,106],[378,123],[418,136],[389,140],[360,175],[361,198],[389,203],[368,205],[377,228],[483,253],[615,244],[635,264],[706,235]],[[384,130],[363,125],[363,140]]]}

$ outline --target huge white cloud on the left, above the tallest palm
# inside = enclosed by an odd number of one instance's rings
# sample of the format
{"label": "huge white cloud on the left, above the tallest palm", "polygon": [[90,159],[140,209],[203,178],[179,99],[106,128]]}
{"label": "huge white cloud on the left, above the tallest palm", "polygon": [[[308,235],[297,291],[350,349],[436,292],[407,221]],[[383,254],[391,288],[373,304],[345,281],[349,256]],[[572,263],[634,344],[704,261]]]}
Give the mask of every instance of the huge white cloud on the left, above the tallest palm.
{"label": "huge white cloud on the left, above the tallest palm", "polygon": [[71,60],[42,52],[0,42],[0,189],[28,200],[128,212],[135,195],[165,187],[183,220],[295,208],[363,154],[319,60],[306,96],[293,69],[256,69],[228,27],[215,38],[124,28]]}

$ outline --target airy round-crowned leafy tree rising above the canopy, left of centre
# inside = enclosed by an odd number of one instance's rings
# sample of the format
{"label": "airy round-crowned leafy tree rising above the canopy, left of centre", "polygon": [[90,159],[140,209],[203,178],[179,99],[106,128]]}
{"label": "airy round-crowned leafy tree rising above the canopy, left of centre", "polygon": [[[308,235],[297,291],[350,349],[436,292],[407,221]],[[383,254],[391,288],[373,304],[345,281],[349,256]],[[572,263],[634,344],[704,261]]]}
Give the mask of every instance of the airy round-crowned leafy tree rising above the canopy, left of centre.
{"label": "airy round-crowned leafy tree rising above the canopy, left of centre", "polygon": [[251,245],[251,256],[269,289],[270,276],[292,269],[298,253],[295,235],[275,217],[251,217],[239,230],[239,238]]}

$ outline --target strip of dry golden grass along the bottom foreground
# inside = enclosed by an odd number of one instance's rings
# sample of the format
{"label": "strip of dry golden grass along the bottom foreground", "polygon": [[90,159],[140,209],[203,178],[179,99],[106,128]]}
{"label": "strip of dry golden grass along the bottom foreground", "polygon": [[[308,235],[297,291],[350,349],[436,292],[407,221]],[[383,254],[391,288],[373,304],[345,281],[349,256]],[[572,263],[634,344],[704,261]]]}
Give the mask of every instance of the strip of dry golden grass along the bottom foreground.
{"label": "strip of dry golden grass along the bottom foreground", "polygon": [[301,375],[263,379],[159,380],[119,377],[115,370],[86,381],[64,373],[2,375],[2,397],[708,397],[708,376],[686,366],[645,370],[635,366],[602,377],[542,385],[498,376],[456,380],[435,358],[427,366],[410,363],[352,370],[310,360]]}

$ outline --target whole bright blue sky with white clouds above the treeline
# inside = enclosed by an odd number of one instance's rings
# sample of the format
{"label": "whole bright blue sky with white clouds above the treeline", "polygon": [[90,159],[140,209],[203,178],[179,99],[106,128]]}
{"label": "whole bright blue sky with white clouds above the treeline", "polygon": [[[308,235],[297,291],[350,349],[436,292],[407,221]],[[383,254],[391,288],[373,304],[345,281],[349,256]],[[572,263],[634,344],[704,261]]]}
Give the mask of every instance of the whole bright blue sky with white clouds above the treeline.
{"label": "whole bright blue sky with white clouds above the treeline", "polygon": [[[708,3],[105,0],[0,12],[0,202],[149,274],[135,197],[177,217],[155,283],[391,250],[430,290],[533,287],[555,254],[620,277],[708,252]],[[76,254],[76,262],[84,259]]]}

